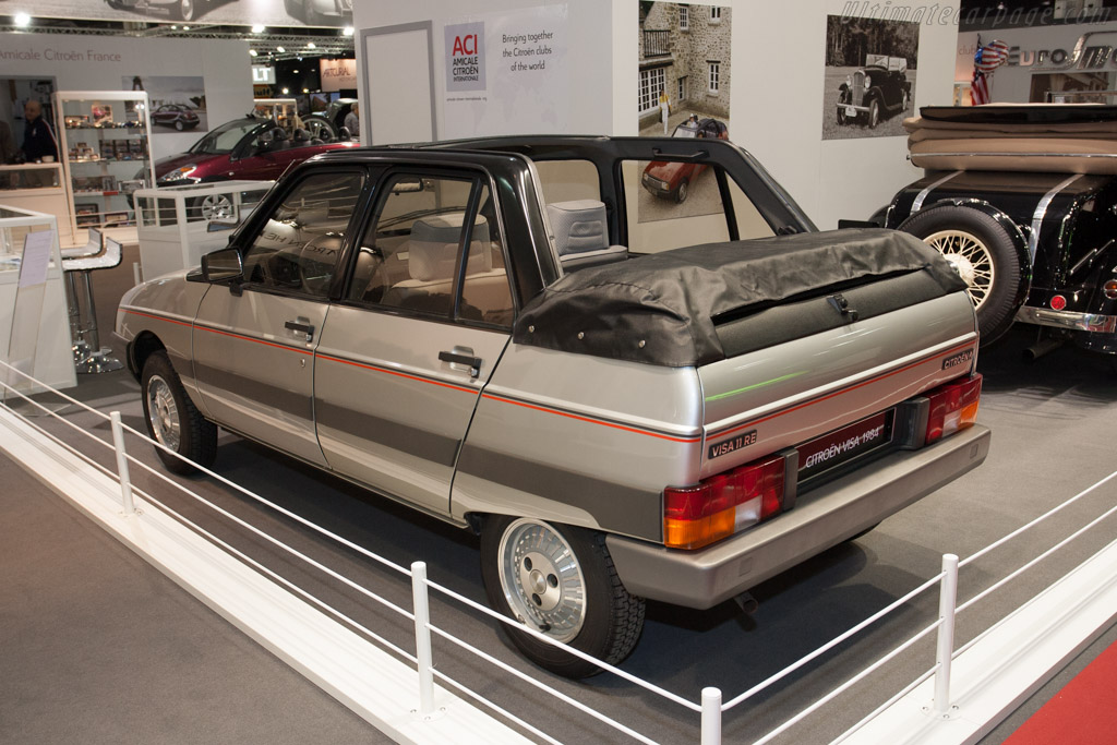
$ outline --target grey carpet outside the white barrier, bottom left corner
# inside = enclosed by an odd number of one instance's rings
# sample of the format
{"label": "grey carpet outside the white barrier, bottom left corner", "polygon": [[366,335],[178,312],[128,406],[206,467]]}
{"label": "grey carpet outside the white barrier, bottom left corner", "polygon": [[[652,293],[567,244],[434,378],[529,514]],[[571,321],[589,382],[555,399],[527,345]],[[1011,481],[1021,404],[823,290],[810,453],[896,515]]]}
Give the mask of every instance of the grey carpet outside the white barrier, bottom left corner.
{"label": "grey carpet outside the white barrier, bottom left corner", "polygon": [[0,457],[0,742],[389,742]]}

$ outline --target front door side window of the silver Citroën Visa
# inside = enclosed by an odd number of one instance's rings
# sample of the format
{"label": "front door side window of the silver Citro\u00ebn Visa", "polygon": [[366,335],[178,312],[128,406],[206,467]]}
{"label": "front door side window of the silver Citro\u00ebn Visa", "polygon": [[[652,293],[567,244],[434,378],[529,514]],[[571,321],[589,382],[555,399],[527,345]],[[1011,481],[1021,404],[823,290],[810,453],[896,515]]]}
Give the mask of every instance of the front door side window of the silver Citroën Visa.
{"label": "front door side window of the silver Citro\u00ebn Visa", "polygon": [[317,173],[299,181],[245,251],[245,281],[326,297],[363,185],[360,173]]}

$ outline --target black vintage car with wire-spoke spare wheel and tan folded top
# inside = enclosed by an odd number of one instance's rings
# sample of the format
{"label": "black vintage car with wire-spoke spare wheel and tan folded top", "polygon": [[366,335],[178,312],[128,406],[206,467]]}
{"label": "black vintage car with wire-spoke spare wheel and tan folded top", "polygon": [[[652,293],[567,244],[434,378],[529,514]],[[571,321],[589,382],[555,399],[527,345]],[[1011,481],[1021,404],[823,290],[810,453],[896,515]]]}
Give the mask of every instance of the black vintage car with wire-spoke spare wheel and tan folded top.
{"label": "black vintage car with wire-spoke spare wheel and tan folded top", "polygon": [[1117,353],[1117,106],[929,106],[905,123],[926,175],[885,226],[923,238],[970,286],[982,343],[1039,327]]}

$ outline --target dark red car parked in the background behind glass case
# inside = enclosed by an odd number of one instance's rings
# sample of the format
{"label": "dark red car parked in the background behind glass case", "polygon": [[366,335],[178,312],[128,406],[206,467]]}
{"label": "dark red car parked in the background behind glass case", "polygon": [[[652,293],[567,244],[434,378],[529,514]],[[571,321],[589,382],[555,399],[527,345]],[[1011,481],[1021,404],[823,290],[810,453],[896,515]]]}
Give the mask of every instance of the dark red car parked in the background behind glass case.
{"label": "dark red car parked in the background behind glass case", "polygon": [[287,132],[273,120],[246,116],[210,130],[184,153],[155,161],[155,185],[182,187],[233,179],[271,181],[292,163],[356,144],[321,136],[312,139],[306,130]]}

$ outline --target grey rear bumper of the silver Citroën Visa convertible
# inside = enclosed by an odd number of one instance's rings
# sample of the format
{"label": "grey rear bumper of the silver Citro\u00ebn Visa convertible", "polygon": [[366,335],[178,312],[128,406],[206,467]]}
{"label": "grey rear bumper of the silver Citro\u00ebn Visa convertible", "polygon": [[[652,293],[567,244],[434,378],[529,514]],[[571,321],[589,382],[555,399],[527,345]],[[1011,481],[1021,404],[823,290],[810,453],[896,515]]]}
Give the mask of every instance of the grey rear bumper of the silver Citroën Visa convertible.
{"label": "grey rear bumper of the silver Citro\u00ebn Visa convertible", "polygon": [[901,450],[809,491],[795,508],[700,551],[610,535],[629,592],[706,609],[834,546],[981,465],[990,431],[974,426],[919,450]]}

